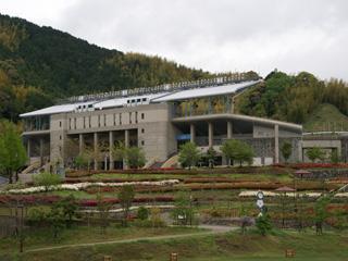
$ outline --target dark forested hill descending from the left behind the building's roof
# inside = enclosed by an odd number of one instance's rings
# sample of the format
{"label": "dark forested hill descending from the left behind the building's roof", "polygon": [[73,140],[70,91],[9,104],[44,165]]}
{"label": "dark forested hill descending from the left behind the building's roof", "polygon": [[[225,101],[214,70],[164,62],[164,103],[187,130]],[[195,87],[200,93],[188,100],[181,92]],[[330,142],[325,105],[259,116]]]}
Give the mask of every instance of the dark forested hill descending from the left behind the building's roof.
{"label": "dark forested hill descending from the left behind the building's roof", "polygon": [[54,98],[162,83],[210,74],[158,57],[123,53],[89,45],[51,27],[0,15],[0,117]]}

